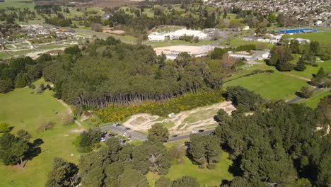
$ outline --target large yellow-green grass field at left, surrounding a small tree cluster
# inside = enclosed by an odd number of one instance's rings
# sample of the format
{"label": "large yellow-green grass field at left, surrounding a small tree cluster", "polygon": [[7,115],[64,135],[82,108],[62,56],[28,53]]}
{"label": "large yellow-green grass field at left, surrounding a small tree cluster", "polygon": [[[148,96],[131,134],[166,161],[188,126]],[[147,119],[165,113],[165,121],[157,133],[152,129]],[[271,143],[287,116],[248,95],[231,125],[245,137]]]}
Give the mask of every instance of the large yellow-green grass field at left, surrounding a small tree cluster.
{"label": "large yellow-green grass field at left, surrounding a small tree cluster", "polygon": [[[60,124],[62,114],[67,112],[66,108],[56,101],[52,91],[44,91],[42,94],[32,92],[33,89],[25,87],[0,94],[0,122],[10,123],[14,127],[13,133],[20,129],[28,130],[33,140],[41,138],[44,141],[42,152],[28,161],[25,169],[0,164],[0,186],[45,186],[54,157],[78,162],[79,153],[72,145],[76,135],[71,132],[77,129],[77,125]],[[57,125],[52,130],[40,132],[37,128],[41,120],[52,120]]]}

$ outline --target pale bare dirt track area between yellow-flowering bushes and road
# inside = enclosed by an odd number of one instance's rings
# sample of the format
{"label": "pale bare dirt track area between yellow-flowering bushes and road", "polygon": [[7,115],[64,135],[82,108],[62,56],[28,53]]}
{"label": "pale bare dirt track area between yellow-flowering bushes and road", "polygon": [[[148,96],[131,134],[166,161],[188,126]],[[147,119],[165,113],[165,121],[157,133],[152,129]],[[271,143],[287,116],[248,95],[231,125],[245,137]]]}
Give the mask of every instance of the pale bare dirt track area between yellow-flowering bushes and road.
{"label": "pale bare dirt track area between yellow-flowering bushes and road", "polygon": [[228,114],[236,110],[231,102],[224,101],[211,106],[195,108],[191,111],[182,111],[173,116],[173,118],[161,118],[162,120],[159,120],[160,116],[158,115],[147,113],[132,115],[123,125],[133,130],[146,132],[146,130],[156,123],[161,123],[165,126],[171,124],[168,129],[171,134],[185,134],[192,132],[192,130],[206,129],[217,125],[214,115],[216,115],[220,108]]}

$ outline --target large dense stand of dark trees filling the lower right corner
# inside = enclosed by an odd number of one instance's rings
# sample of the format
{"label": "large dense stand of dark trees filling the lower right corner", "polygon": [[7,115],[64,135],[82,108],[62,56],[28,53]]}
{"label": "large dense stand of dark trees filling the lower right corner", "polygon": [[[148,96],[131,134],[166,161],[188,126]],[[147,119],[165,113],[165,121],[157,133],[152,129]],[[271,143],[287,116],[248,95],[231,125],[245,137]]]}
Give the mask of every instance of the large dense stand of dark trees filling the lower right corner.
{"label": "large dense stand of dark trees filling the lower right corner", "polygon": [[221,124],[215,136],[233,159],[230,171],[235,176],[221,186],[330,184],[331,135],[326,130],[331,96],[323,98],[313,110],[284,101],[261,103],[260,96],[252,94],[240,87],[228,87],[228,99],[253,106],[253,113],[245,115],[238,107],[232,115],[225,111],[216,115]]}

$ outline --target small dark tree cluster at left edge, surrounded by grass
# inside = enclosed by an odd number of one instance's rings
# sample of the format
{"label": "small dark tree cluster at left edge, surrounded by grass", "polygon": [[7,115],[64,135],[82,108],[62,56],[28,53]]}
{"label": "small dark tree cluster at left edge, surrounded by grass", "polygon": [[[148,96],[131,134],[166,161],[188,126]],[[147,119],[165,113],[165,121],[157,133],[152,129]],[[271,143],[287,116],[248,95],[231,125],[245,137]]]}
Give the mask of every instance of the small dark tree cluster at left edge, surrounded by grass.
{"label": "small dark tree cluster at left edge, surrounded by grass", "polygon": [[[6,123],[1,123],[6,125]],[[25,130],[18,130],[16,135],[10,133],[12,128],[9,127],[0,136],[0,160],[7,165],[18,164],[24,167],[24,160],[33,159],[41,152],[41,139],[30,142],[32,136]]]}

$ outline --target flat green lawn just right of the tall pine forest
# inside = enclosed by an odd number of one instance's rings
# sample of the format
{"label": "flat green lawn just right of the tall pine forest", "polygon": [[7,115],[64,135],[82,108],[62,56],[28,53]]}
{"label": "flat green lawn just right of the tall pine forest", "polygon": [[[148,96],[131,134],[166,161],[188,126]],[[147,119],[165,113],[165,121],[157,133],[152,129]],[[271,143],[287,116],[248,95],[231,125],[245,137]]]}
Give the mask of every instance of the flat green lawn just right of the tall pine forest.
{"label": "flat green lawn just right of the tall pine forest", "polygon": [[307,85],[305,80],[296,77],[289,77],[281,73],[263,73],[228,81],[224,87],[243,86],[264,98],[277,100],[288,97],[300,90],[302,86]]}

